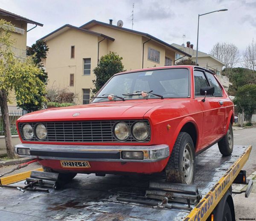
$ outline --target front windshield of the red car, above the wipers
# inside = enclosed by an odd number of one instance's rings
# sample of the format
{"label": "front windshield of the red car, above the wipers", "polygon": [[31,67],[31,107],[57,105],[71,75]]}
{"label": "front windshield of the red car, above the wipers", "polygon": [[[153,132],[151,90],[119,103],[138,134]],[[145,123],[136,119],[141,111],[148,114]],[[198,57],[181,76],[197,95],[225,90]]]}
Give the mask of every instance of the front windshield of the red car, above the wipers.
{"label": "front windshield of the red car, above the wipers", "polygon": [[[105,94],[129,99],[146,99],[141,91],[153,91],[147,99],[159,98],[154,94],[162,95],[163,98],[178,98],[189,96],[189,70],[186,68],[172,68],[162,70],[139,71],[114,76],[97,97]],[[137,93],[136,93],[137,92]],[[128,95],[129,93],[133,96]],[[135,95],[134,94],[138,94]],[[120,100],[115,98],[115,100]],[[108,97],[95,98],[92,102],[105,102]]]}

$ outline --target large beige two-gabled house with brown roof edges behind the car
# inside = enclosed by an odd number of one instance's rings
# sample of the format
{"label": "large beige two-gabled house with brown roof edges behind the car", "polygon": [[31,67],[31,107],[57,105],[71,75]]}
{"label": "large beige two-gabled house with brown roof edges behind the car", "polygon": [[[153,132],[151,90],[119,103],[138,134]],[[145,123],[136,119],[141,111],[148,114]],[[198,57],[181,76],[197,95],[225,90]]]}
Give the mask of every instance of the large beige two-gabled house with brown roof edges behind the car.
{"label": "large beige two-gabled house with brown roof edges behind the car", "polygon": [[49,52],[44,66],[48,87],[67,88],[78,95],[77,104],[90,101],[93,68],[109,51],[123,57],[126,70],[173,65],[175,54],[190,54],[149,34],[92,20],[81,27],[64,25],[41,39]]}

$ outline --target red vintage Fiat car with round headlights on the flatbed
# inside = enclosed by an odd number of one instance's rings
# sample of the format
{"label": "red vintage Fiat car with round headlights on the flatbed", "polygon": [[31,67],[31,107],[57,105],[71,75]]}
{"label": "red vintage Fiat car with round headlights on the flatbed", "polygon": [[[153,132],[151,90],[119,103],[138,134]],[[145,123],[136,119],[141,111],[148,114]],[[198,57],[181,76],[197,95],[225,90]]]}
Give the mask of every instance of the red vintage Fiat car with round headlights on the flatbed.
{"label": "red vintage Fiat car with round headlights on the flatbed", "polygon": [[215,74],[192,65],[115,74],[88,105],[52,108],[17,120],[18,155],[44,170],[76,173],[166,172],[191,184],[195,155],[218,142],[233,151],[234,105]]}

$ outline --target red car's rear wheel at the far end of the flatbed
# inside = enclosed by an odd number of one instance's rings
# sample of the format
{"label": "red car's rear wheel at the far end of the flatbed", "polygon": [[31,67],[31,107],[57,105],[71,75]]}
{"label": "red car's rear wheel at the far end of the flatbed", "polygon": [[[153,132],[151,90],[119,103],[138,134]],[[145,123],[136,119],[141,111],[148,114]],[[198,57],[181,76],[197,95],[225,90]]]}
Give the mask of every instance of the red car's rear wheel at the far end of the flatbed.
{"label": "red car's rear wheel at the far end of the flatbed", "polygon": [[218,147],[223,156],[229,156],[233,152],[233,145],[233,129],[230,123],[226,135],[218,142]]}

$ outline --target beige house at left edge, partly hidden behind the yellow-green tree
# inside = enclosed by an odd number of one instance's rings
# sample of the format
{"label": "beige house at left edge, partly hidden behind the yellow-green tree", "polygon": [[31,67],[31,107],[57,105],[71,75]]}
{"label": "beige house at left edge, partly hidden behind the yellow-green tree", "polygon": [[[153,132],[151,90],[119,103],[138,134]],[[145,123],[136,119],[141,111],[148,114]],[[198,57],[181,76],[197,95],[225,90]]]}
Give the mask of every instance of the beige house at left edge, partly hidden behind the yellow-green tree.
{"label": "beige house at left edge, partly hidden behind the yellow-green tree", "polygon": [[[5,11],[0,8],[0,19],[4,19],[8,22],[11,22],[15,26],[15,30],[12,32],[12,38],[16,40],[15,44],[12,47],[12,51],[15,56],[20,59],[26,57],[26,38],[27,32],[35,28],[36,26],[43,26],[43,24],[29,20],[20,15],[13,14],[9,11]],[[27,30],[27,24],[34,24],[35,26],[30,30]],[[16,99],[15,94],[12,93],[10,96],[10,102],[8,104],[9,111],[16,111]]]}

